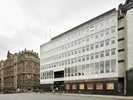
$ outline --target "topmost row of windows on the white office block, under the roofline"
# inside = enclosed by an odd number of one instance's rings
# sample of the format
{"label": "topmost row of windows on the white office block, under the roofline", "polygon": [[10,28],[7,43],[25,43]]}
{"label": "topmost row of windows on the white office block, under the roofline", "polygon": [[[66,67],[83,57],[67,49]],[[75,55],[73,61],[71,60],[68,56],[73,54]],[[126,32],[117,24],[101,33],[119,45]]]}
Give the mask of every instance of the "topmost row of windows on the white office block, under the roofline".
{"label": "topmost row of windows on the white office block, under the roofline", "polygon": [[[96,21],[95,23],[90,24],[90,25],[85,24],[85,25],[81,26],[79,29],[68,33],[69,35],[61,37],[61,39],[58,40],[56,43],[55,42],[52,43],[50,45],[50,47],[58,46],[58,45],[60,45],[60,43],[63,43],[65,41],[71,41],[74,38],[79,38],[79,37],[83,36],[84,34],[88,34],[88,33],[90,34],[91,32],[96,31],[99,28],[101,29],[103,26],[105,27],[108,24],[114,24],[115,18],[116,17],[113,15],[108,18],[105,18],[105,19],[103,18],[102,20]],[[113,31],[115,29],[115,27],[111,27],[110,29]],[[108,32],[108,30],[109,29],[107,29],[107,32]],[[50,48],[50,47],[48,47],[48,48]]]}

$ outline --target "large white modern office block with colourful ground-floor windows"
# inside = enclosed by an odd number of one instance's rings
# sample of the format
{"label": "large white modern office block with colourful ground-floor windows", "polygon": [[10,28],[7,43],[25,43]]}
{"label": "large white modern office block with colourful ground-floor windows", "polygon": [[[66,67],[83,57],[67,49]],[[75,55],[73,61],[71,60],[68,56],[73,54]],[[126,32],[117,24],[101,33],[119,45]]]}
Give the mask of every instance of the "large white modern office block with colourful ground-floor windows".
{"label": "large white modern office block with colourful ground-floor windows", "polygon": [[132,9],[128,0],[40,47],[40,82],[45,91],[124,94],[132,65]]}

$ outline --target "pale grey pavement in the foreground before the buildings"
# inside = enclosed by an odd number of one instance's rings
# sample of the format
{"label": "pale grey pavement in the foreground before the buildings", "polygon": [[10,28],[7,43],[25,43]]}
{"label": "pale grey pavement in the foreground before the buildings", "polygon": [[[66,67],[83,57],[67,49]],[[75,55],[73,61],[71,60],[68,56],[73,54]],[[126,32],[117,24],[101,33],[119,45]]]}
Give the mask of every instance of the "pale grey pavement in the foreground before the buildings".
{"label": "pale grey pavement in the foreground before the buildings", "polygon": [[74,95],[74,94],[0,94],[0,100],[133,100],[132,97]]}

